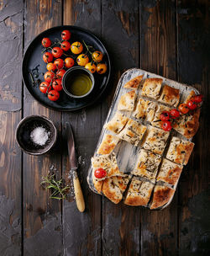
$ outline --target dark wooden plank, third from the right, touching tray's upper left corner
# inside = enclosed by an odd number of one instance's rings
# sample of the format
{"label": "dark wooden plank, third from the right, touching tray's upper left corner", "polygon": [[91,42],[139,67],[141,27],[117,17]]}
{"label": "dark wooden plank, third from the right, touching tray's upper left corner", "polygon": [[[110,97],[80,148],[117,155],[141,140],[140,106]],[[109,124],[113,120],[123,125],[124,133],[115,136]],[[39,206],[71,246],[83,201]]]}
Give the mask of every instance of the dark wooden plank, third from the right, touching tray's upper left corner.
{"label": "dark wooden plank, third from the right, touching tray's upper left corner", "polygon": [[[139,1],[103,1],[102,39],[113,61],[110,106],[123,69],[139,66]],[[103,199],[103,255],[139,255],[140,214],[140,208]]]}

